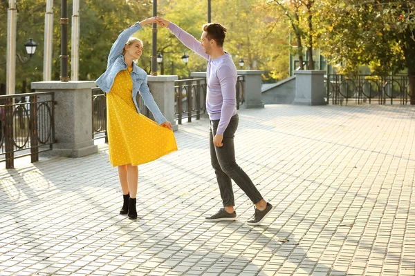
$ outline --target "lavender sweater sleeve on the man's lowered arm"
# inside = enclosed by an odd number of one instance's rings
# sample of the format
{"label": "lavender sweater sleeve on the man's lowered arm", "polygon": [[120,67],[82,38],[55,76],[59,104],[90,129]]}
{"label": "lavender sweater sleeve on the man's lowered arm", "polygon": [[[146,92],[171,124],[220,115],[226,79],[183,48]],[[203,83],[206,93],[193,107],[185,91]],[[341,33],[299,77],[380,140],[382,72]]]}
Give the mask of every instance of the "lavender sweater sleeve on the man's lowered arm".
{"label": "lavender sweater sleeve on the man's lowered arm", "polygon": [[225,129],[229,125],[230,118],[233,115],[235,105],[237,103],[237,88],[236,79],[237,76],[232,74],[232,70],[229,66],[222,66],[217,71],[216,76],[221,83],[222,91],[222,108],[221,108],[221,119],[219,120],[218,129],[216,133],[223,135]]}

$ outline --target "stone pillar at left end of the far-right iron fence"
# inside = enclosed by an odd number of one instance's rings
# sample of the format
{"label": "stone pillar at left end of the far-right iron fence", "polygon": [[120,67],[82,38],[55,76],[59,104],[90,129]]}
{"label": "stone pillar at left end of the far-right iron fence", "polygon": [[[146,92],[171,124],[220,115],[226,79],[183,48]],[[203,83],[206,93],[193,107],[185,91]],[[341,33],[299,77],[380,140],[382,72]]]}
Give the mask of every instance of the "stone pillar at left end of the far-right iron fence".
{"label": "stone pillar at left end of the far-right iron fence", "polygon": [[296,70],[295,74],[295,99],[293,104],[307,106],[319,106],[327,104],[324,99],[325,71],[320,70]]}

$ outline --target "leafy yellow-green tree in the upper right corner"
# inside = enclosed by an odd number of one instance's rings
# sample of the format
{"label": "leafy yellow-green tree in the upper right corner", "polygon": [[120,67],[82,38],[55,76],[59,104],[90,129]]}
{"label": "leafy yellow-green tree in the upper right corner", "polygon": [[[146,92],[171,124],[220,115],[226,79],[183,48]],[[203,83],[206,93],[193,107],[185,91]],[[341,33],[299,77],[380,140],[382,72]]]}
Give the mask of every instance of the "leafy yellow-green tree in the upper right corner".
{"label": "leafy yellow-green tree in the upper right corner", "polygon": [[407,70],[415,104],[415,3],[327,0],[320,3],[319,43],[340,72],[368,64],[375,74]]}

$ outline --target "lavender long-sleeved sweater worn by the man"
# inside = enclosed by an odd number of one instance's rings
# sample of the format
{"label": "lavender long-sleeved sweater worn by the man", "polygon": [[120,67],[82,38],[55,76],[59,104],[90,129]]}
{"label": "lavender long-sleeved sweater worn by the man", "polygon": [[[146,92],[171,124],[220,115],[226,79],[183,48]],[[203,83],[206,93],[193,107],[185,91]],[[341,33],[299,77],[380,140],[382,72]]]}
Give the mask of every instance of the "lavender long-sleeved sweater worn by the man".
{"label": "lavender long-sleeved sweater worn by the man", "polygon": [[174,23],[170,22],[167,27],[187,48],[193,50],[204,59],[208,60],[206,70],[206,81],[208,82],[208,95],[206,96],[206,109],[211,120],[219,120],[216,133],[223,135],[228,127],[230,118],[237,114],[236,105],[236,83],[237,67],[228,52],[217,59],[211,59],[205,53],[200,41],[195,39]]}

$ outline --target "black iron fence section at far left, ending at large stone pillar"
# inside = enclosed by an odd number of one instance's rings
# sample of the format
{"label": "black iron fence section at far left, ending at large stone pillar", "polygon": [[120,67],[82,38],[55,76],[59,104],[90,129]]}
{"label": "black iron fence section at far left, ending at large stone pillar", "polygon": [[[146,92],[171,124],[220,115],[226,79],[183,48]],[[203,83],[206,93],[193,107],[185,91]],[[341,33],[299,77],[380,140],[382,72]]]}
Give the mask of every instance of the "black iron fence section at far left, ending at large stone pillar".
{"label": "black iron fence section at far left, ending at large stone pillar", "polygon": [[15,158],[52,150],[55,142],[55,99],[53,92],[0,96],[0,161],[14,168]]}

